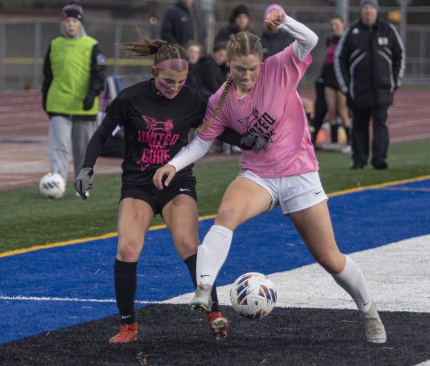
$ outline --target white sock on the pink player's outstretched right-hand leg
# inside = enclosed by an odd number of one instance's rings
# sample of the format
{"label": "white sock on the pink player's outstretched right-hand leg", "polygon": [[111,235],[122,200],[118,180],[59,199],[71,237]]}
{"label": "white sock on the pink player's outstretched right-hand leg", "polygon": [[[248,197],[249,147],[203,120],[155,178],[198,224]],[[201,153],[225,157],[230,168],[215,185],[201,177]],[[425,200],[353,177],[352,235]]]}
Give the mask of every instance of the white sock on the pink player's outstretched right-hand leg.
{"label": "white sock on the pink player's outstretched right-hand leg", "polygon": [[372,297],[370,297],[370,290],[364,279],[363,272],[349,256],[345,257],[345,268],[341,273],[332,275],[332,277],[339,286],[350,294],[360,311],[368,311]]}

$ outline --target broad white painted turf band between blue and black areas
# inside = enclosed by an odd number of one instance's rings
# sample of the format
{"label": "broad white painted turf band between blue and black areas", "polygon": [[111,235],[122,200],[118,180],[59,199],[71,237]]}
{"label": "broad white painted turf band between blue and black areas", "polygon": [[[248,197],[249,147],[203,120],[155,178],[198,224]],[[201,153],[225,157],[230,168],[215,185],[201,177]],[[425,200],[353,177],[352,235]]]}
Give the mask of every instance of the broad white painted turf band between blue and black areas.
{"label": "broad white painted turf band between blue and black areas", "polygon": [[[349,255],[361,268],[379,310],[429,313],[430,235]],[[268,277],[277,286],[277,306],[356,308],[350,296],[318,264]],[[220,304],[230,305],[230,286],[218,288]],[[184,304],[192,295],[180,295],[164,303]]]}

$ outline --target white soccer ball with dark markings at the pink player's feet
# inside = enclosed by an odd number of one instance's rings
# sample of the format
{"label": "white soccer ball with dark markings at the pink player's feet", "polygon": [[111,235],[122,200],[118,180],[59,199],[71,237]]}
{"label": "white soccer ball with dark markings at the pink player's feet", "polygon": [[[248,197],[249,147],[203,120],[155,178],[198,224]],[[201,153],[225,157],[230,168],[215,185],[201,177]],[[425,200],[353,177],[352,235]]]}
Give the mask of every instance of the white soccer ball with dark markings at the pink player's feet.
{"label": "white soccer ball with dark markings at the pink player's feet", "polygon": [[230,288],[230,301],[234,310],[248,319],[268,315],[275,307],[276,298],[273,282],[257,272],[241,275]]}

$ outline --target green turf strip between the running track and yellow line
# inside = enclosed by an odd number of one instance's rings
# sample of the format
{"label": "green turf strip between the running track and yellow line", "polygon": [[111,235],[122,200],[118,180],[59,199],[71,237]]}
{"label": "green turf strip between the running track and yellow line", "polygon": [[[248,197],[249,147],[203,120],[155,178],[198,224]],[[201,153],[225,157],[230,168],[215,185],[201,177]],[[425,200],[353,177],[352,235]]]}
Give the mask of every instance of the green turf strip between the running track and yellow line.
{"label": "green turf strip between the running track and yellow line", "polygon": [[[353,171],[348,155],[318,153],[322,184],[327,193],[332,193],[429,175],[429,145],[428,140],[423,140],[390,146],[390,167],[385,171],[369,166]],[[216,214],[225,188],[238,171],[236,162],[194,168],[200,216]],[[37,187],[0,191],[0,253],[116,232],[120,186],[119,176],[96,177],[87,201],[76,197],[72,184],[67,185],[62,200],[42,198]],[[153,224],[161,223],[157,216]]]}

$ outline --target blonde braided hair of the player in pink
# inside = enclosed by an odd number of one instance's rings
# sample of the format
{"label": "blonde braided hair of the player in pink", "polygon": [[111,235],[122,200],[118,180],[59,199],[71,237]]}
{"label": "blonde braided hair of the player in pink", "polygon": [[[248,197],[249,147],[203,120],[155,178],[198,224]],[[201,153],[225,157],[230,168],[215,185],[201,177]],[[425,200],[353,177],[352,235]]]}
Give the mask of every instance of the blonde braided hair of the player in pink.
{"label": "blonde braided hair of the player in pink", "polygon": [[[227,43],[227,61],[231,62],[234,58],[241,56],[256,55],[261,60],[263,58],[263,47],[257,35],[250,33],[246,30],[236,33],[235,35],[230,35],[230,40]],[[205,131],[209,128],[212,121],[218,116],[219,112],[223,109],[225,103],[225,97],[227,96],[230,87],[232,86],[233,78],[229,76],[225,81],[223,93],[216,106],[212,116],[209,118],[205,124],[203,124],[199,131]]]}

